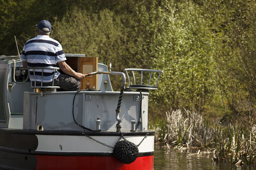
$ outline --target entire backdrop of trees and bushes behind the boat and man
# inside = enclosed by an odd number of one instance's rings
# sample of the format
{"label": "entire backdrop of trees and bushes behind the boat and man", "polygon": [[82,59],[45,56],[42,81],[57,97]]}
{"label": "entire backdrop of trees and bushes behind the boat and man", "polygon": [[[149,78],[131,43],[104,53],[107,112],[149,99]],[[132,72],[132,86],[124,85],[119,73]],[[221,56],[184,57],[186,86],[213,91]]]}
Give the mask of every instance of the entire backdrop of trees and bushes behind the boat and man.
{"label": "entire backdrop of trees and bushes behind the boat and man", "polygon": [[[16,55],[42,19],[65,53],[113,71],[164,71],[150,116],[171,108],[226,120],[256,109],[255,0],[0,0],[0,55]],[[119,90],[119,77],[111,76]],[[249,122],[253,123],[253,122]]]}

